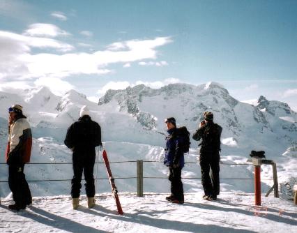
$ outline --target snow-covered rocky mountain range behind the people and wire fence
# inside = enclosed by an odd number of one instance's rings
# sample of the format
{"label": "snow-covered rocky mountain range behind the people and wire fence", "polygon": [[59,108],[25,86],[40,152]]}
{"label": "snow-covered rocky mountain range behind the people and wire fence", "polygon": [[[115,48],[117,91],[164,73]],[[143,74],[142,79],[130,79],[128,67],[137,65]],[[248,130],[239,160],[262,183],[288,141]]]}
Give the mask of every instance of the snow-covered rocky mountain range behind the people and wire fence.
{"label": "snow-covered rocky mountain range behind the people and wire fence", "polygon": [[[68,126],[79,118],[79,109],[87,105],[91,117],[100,123],[102,140],[109,160],[158,160],[162,161],[166,133],[164,119],[175,117],[178,126],[187,126],[195,132],[202,114],[213,112],[214,121],[222,128],[222,161],[243,163],[251,150],[264,150],[266,157],[277,163],[280,182],[296,181],[297,172],[297,113],[279,101],[266,100],[260,96],[257,105],[241,103],[229,95],[222,85],[210,82],[194,86],[190,84],[169,84],[161,89],[151,89],[144,85],[128,87],[124,90],[109,90],[98,104],[87,100],[77,91],[68,91],[64,96],[55,96],[50,89],[42,87],[10,93],[0,92],[0,152],[3,155],[7,140],[7,109],[13,103],[24,107],[33,129],[32,163],[71,162],[71,153],[63,146]],[[197,161],[199,148],[192,141],[186,161]],[[1,156],[1,163],[4,163]],[[6,165],[1,165],[0,180],[7,180]],[[100,165],[99,165],[100,166]],[[135,164],[113,165],[114,176],[135,176]],[[67,165],[28,165],[30,179],[68,179],[72,168]],[[263,166],[264,179],[272,177],[271,167]],[[131,172],[132,171],[132,172]],[[221,177],[252,177],[252,166],[224,167]],[[144,167],[146,176],[165,176],[167,168],[162,163],[150,163]],[[198,165],[187,165],[184,177],[199,177]],[[98,176],[106,176],[104,169],[98,169]],[[145,180],[147,191],[166,191],[168,181],[155,184]],[[265,181],[271,185],[272,181]],[[36,186],[36,195],[60,195],[69,193],[69,184],[31,183]],[[120,190],[135,191],[136,181],[119,179]],[[165,184],[166,183],[166,184]],[[242,190],[252,192],[252,181],[223,181],[222,190]],[[6,183],[1,183],[0,194],[8,195]],[[185,190],[197,190],[199,180],[185,180]],[[263,186],[267,188],[267,186]],[[101,190],[106,188],[98,188]],[[266,191],[266,190],[265,190]]]}

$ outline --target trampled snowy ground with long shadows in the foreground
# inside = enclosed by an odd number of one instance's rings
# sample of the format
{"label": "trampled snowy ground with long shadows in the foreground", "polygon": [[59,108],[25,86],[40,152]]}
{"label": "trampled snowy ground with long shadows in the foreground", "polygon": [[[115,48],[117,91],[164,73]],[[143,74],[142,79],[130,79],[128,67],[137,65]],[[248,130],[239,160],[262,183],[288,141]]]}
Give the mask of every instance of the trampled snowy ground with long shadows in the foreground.
{"label": "trampled snowy ground with long shadows in the foreground", "polygon": [[205,201],[202,193],[188,193],[185,204],[165,201],[166,195],[121,195],[124,216],[116,212],[113,198],[96,197],[93,209],[82,197],[73,210],[70,198],[34,197],[33,206],[18,213],[2,200],[1,232],[297,232],[297,207],[293,202],[262,197],[253,206],[252,195],[221,193],[216,202]]}

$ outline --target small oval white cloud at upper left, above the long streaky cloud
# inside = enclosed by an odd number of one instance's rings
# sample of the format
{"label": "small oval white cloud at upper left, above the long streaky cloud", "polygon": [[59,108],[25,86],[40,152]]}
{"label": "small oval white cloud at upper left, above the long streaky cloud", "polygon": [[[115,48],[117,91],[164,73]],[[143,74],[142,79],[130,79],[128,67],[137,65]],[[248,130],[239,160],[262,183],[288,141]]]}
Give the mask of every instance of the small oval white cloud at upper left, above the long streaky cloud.
{"label": "small oval white cloud at upper left, above the long streaky cloud", "polygon": [[31,24],[29,29],[24,32],[26,36],[45,36],[45,37],[56,37],[56,36],[69,36],[70,33],[61,30],[54,24]]}

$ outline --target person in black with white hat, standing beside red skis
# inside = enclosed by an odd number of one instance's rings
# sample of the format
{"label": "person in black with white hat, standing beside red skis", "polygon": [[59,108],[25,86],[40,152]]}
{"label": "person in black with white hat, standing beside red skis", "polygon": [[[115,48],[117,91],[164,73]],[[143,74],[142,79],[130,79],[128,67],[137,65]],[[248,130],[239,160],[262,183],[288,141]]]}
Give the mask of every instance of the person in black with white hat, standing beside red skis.
{"label": "person in black with white hat, standing beside red skis", "polygon": [[88,207],[95,206],[95,184],[93,170],[96,158],[96,146],[102,146],[101,128],[99,124],[92,121],[89,110],[83,106],[80,110],[80,118],[73,123],[67,131],[64,141],[66,146],[73,151],[73,179],[71,181],[71,197],[73,198],[73,209],[79,204],[80,188],[82,188],[82,172],[86,181],[86,196]]}

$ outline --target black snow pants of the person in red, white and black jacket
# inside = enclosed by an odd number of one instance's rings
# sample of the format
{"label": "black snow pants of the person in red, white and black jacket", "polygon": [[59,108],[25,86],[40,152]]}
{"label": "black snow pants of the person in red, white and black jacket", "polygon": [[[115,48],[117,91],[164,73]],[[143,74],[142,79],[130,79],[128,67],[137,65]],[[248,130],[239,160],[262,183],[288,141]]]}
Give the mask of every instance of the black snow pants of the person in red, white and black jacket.
{"label": "black snow pants of the person in red, white and black jacket", "polygon": [[24,164],[12,164],[8,167],[8,185],[13,193],[13,200],[22,209],[32,203],[31,191],[25,179]]}

